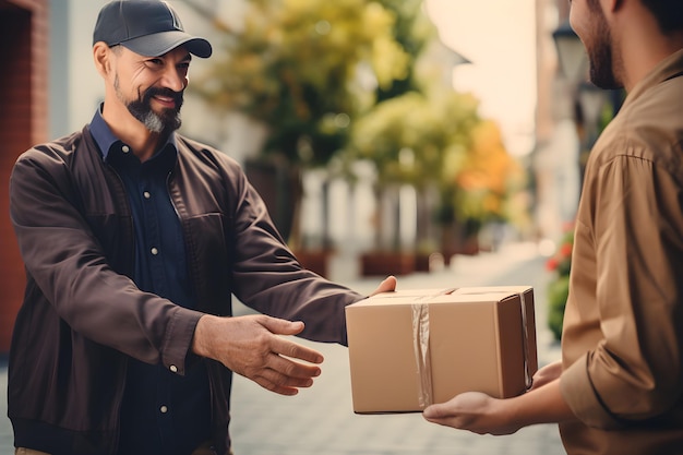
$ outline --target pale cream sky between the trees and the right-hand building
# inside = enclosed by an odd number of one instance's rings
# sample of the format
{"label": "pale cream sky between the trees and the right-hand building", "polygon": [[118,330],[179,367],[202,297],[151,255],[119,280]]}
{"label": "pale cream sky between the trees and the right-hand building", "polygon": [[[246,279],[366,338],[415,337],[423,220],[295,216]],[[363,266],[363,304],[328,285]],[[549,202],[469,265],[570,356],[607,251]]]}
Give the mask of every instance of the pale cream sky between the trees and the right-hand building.
{"label": "pale cream sky between the trees and the right-hand building", "polygon": [[469,59],[454,70],[454,87],[480,99],[499,122],[508,152],[534,147],[536,110],[535,0],[426,0],[443,43]]}

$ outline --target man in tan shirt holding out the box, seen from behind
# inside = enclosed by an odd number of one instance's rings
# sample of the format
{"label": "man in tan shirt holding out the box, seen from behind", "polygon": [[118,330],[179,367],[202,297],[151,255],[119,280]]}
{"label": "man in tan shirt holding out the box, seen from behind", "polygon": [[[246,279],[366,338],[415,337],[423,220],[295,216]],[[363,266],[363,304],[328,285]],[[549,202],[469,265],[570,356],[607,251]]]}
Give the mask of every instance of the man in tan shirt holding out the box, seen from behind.
{"label": "man in tan shirt holding out the box, seen from behind", "polygon": [[683,2],[573,0],[591,81],[628,93],[590,155],[562,361],[525,395],[466,393],[429,421],[559,422],[570,454],[683,454]]}

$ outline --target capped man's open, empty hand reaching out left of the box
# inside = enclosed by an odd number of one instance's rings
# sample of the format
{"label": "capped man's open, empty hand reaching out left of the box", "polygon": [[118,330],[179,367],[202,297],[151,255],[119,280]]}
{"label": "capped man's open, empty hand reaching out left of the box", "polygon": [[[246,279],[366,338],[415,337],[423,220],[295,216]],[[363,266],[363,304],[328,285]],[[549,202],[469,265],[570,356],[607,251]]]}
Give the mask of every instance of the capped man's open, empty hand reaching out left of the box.
{"label": "capped man's open, empty hand reaching out left of the box", "polygon": [[204,315],[194,331],[195,354],[221,362],[233,372],[280,395],[296,395],[313,385],[323,356],[278,335],[297,335],[302,322],[290,322],[263,314],[236,318]]}

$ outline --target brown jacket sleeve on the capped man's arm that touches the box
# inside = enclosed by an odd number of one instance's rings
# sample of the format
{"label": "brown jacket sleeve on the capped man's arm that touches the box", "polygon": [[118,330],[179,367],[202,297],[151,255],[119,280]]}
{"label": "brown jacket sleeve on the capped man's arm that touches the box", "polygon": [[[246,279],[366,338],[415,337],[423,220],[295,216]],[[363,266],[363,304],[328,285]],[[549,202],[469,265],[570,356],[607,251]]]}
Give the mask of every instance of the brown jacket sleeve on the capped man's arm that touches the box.
{"label": "brown jacket sleeve on the capped man's arm that touches the box", "polygon": [[233,215],[233,287],[241,302],[265,314],[305,324],[301,336],[347,344],[344,308],[356,291],[304,270],[287,248],[256,190],[239,172]]}

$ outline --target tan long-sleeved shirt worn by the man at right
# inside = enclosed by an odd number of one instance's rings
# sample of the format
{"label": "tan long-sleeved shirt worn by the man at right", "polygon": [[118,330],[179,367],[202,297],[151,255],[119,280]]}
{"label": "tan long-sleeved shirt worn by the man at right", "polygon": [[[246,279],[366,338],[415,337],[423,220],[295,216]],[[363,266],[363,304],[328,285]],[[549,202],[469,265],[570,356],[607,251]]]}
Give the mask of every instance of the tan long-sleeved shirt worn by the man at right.
{"label": "tan long-sleeved shirt worn by the man at right", "polygon": [[590,154],[562,357],[568,454],[683,454],[683,50]]}

